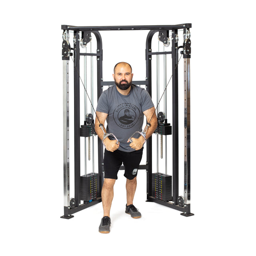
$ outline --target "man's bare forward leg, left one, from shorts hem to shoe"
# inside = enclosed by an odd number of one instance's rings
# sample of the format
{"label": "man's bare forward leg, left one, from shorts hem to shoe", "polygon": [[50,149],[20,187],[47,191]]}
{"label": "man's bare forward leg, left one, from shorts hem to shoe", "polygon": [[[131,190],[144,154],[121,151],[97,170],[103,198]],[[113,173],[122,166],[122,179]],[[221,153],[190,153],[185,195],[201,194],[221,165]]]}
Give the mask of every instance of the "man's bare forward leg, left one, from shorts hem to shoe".
{"label": "man's bare forward leg, left one, from shorts hem to shoe", "polygon": [[112,204],[112,200],[114,197],[114,184],[115,179],[104,179],[104,183],[102,186],[101,197],[102,197],[102,206],[104,214],[103,216],[110,217],[110,208]]}

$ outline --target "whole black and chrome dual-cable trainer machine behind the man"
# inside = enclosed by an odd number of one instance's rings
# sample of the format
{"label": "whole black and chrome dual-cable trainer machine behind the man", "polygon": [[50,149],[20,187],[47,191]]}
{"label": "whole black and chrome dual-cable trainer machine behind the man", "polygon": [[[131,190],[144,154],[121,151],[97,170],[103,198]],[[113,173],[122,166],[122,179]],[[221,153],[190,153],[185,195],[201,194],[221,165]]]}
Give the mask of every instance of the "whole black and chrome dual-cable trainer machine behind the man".
{"label": "whole black and chrome dual-cable trainer machine behind the man", "polygon": [[[152,97],[152,84],[156,86],[156,114],[158,126],[155,130],[156,146],[156,170],[152,172],[152,137],[146,142],[146,163],[140,165],[140,170],[146,170],[147,186],[146,195],[148,202],[155,202],[181,211],[183,216],[192,216],[190,212],[190,41],[191,24],[164,25],[164,26],[102,26],[84,27],[62,25],[62,60],[63,60],[63,134],[64,134],[64,215],[61,218],[72,218],[72,214],[101,202],[101,188],[104,182],[103,144],[98,138],[98,148],[95,150],[94,137],[94,64],[97,66],[97,99],[102,94],[104,87],[112,86],[113,81],[105,82],[102,77],[102,37],[99,31],[125,31],[125,30],[149,30],[146,38],[146,79],[132,81],[133,84],[144,86]],[[178,46],[178,33],[182,32],[182,45]],[[70,33],[73,33],[73,47],[70,45]],[[92,38],[96,38],[96,49],[92,52]],[[155,35],[155,36],[154,36]],[[158,50],[154,50],[152,38],[158,39]],[[160,51],[159,44],[163,44],[164,50]],[[90,45],[90,52],[86,47]],[[171,51],[165,48],[171,46]],[[84,50],[85,49],[85,50]],[[178,50],[181,49],[180,58]],[[84,69],[80,72],[80,58],[84,57]],[[167,97],[167,57],[170,58],[172,78],[172,101]],[[178,118],[178,63],[183,56],[184,62],[184,195],[179,196],[179,118]],[[160,65],[160,57],[163,64]],[[70,58],[72,62],[70,62]],[[88,75],[88,58],[90,58],[90,76]],[[152,71],[152,61],[156,59],[156,73]],[[70,63],[73,63],[74,76],[74,198],[70,198]],[[160,79],[160,67],[164,70],[164,78]],[[80,76],[84,75],[84,82]],[[90,88],[87,88],[87,78],[90,77]],[[84,123],[80,124],[80,81],[84,87]],[[161,96],[160,84],[163,84]],[[154,89],[154,88],[153,88]],[[162,89],[161,89],[162,90]],[[90,91],[90,96],[88,92]],[[155,96],[155,94],[154,94]],[[159,111],[160,101],[164,96],[164,111]],[[168,98],[168,101],[167,101]],[[90,101],[90,112],[87,107]],[[153,100],[153,98],[152,98]],[[154,100],[153,100],[154,102]],[[167,105],[172,104],[172,126],[167,121]],[[73,107],[73,105],[72,105]],[[105,134],[104,134],[105,135]],[[106,134],[107,136],[108,134]],[[160,136],[160,146],[159,144]],[[165,150],[163,150],[163,136],[165,138]],[[84,169],[81,176],[81,151],[80,140],[84,137]],[[167,174],[167,140],[172,137],[172,175]],[[90,154],[92,138],[92,159]],[[154,139],[154,138],[153,138]],[[160,158],[165,161],[165,173],[158,171]],[[94,172],[94,152],[98,151],[98,173]],[[163,155],[165,151],[165,156]],[[88,160],[92,160],[92,172],[87,174]],[[124,166],[120,167],[124,170]],[[83,201],[81,203],[81,201]]]}

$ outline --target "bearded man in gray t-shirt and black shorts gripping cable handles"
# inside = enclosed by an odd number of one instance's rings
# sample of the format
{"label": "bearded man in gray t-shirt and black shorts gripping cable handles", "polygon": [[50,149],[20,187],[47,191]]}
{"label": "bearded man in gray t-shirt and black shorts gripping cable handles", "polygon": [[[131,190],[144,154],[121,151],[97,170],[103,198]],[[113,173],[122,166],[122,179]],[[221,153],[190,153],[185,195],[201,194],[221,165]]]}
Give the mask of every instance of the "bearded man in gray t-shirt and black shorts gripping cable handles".
{"label": "bearded man in gray t-shirt and black shorts gripping cable handles", "polygon": [[[125,212],[132,218],[140,218],[141,213],[133,205],[134,194],[137,187],[137,173],[142,159],[143,145],[154,132],[157,126],[157,118],[154,104],[148,92],[132,84],[132,67],[126,62],[119,62],[114,67],[114,82],[116,86],[111,86],[105,90],[98,100],[96,108],[95,129],[98,137],[103,140],[103,132],[100,124],[107,121],[107,128],[104,132],[112,133],[116,136],[107,137],[104,140],[104,183],[102,187],[103,218],[99,226],[100,233],[110,232],[110,208],[114,197],[114,184],[120,166],[123,164],[126,177],[126,209]],[[132,118],[123,121],[127,113]],[[136,133],[132,142],[129,140],[134,132],[142,131],[144,115],[150,126],[146,132],[146,138]],[[151,119],[152,118],[152,119]]]}

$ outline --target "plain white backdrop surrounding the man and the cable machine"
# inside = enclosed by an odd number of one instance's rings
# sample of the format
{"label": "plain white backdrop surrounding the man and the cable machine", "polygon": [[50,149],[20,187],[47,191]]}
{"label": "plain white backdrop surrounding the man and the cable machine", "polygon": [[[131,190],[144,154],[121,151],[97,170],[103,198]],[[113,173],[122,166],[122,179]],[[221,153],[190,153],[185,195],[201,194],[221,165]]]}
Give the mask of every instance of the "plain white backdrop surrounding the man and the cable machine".
{"label": "plain white backdrop surrounding the man and the cable machine", "polygon": [[[250,2],[25,0],[1,4],[3,255],[252,253],[256,84]],[[134,220],[124,213],[125,180],[120,175],[110,234],[98,233],[102,204],[70,220],[61,219],[61,25],[181,23],[192,23],[191,212],[195,215],[185,218],[178,211],[145,202],[146,173],[140,171],[134,204],[142,218]],[[136,48],[133,38],[124,35],[122,41],[131,42],[129,50]]]}

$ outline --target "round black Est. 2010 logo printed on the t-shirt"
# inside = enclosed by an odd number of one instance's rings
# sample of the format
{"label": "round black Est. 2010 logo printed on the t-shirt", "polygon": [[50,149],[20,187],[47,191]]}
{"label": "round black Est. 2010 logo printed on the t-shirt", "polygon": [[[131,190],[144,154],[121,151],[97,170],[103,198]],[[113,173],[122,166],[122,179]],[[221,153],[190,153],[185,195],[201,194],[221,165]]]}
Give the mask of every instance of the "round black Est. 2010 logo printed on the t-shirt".
{"label": "round black Est. 2010 logo printed on the t-shirt", "polygon": [[140,110],[133,104],[122,103],[114,110],[113,118],[116,124],[124,129],[131,128],[138,121]]}

